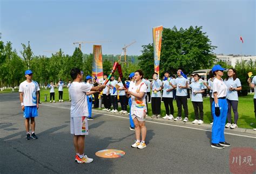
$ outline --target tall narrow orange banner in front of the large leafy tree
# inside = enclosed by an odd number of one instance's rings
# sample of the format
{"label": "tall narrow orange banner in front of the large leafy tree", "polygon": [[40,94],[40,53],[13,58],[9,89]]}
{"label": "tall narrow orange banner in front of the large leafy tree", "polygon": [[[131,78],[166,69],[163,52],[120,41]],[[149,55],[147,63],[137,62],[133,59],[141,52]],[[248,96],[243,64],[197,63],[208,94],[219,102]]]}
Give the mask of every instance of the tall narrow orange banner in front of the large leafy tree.
{"label": "tall narrow orange banner in front of the large leafy tree", "polygon": [[160,53],[162,43],[163,26],[153,27],[153,46],[154,46],[154,72],[159,75]]}

